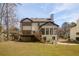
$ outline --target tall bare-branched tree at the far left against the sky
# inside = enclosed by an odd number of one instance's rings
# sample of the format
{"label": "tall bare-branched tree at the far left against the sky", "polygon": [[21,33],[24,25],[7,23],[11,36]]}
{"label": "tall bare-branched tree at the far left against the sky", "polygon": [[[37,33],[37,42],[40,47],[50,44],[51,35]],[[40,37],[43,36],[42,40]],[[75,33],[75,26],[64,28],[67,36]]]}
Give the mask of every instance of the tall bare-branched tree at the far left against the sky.
{"label": "tall bare-branched tree at the far left against the sky", "polygon": [[1,23],[7,31],[7,40],[9,39],[9,28],[15,26],[16,21],[16,10],[17,4],[14,3],[1,3],[0,4],[0,19]]}

